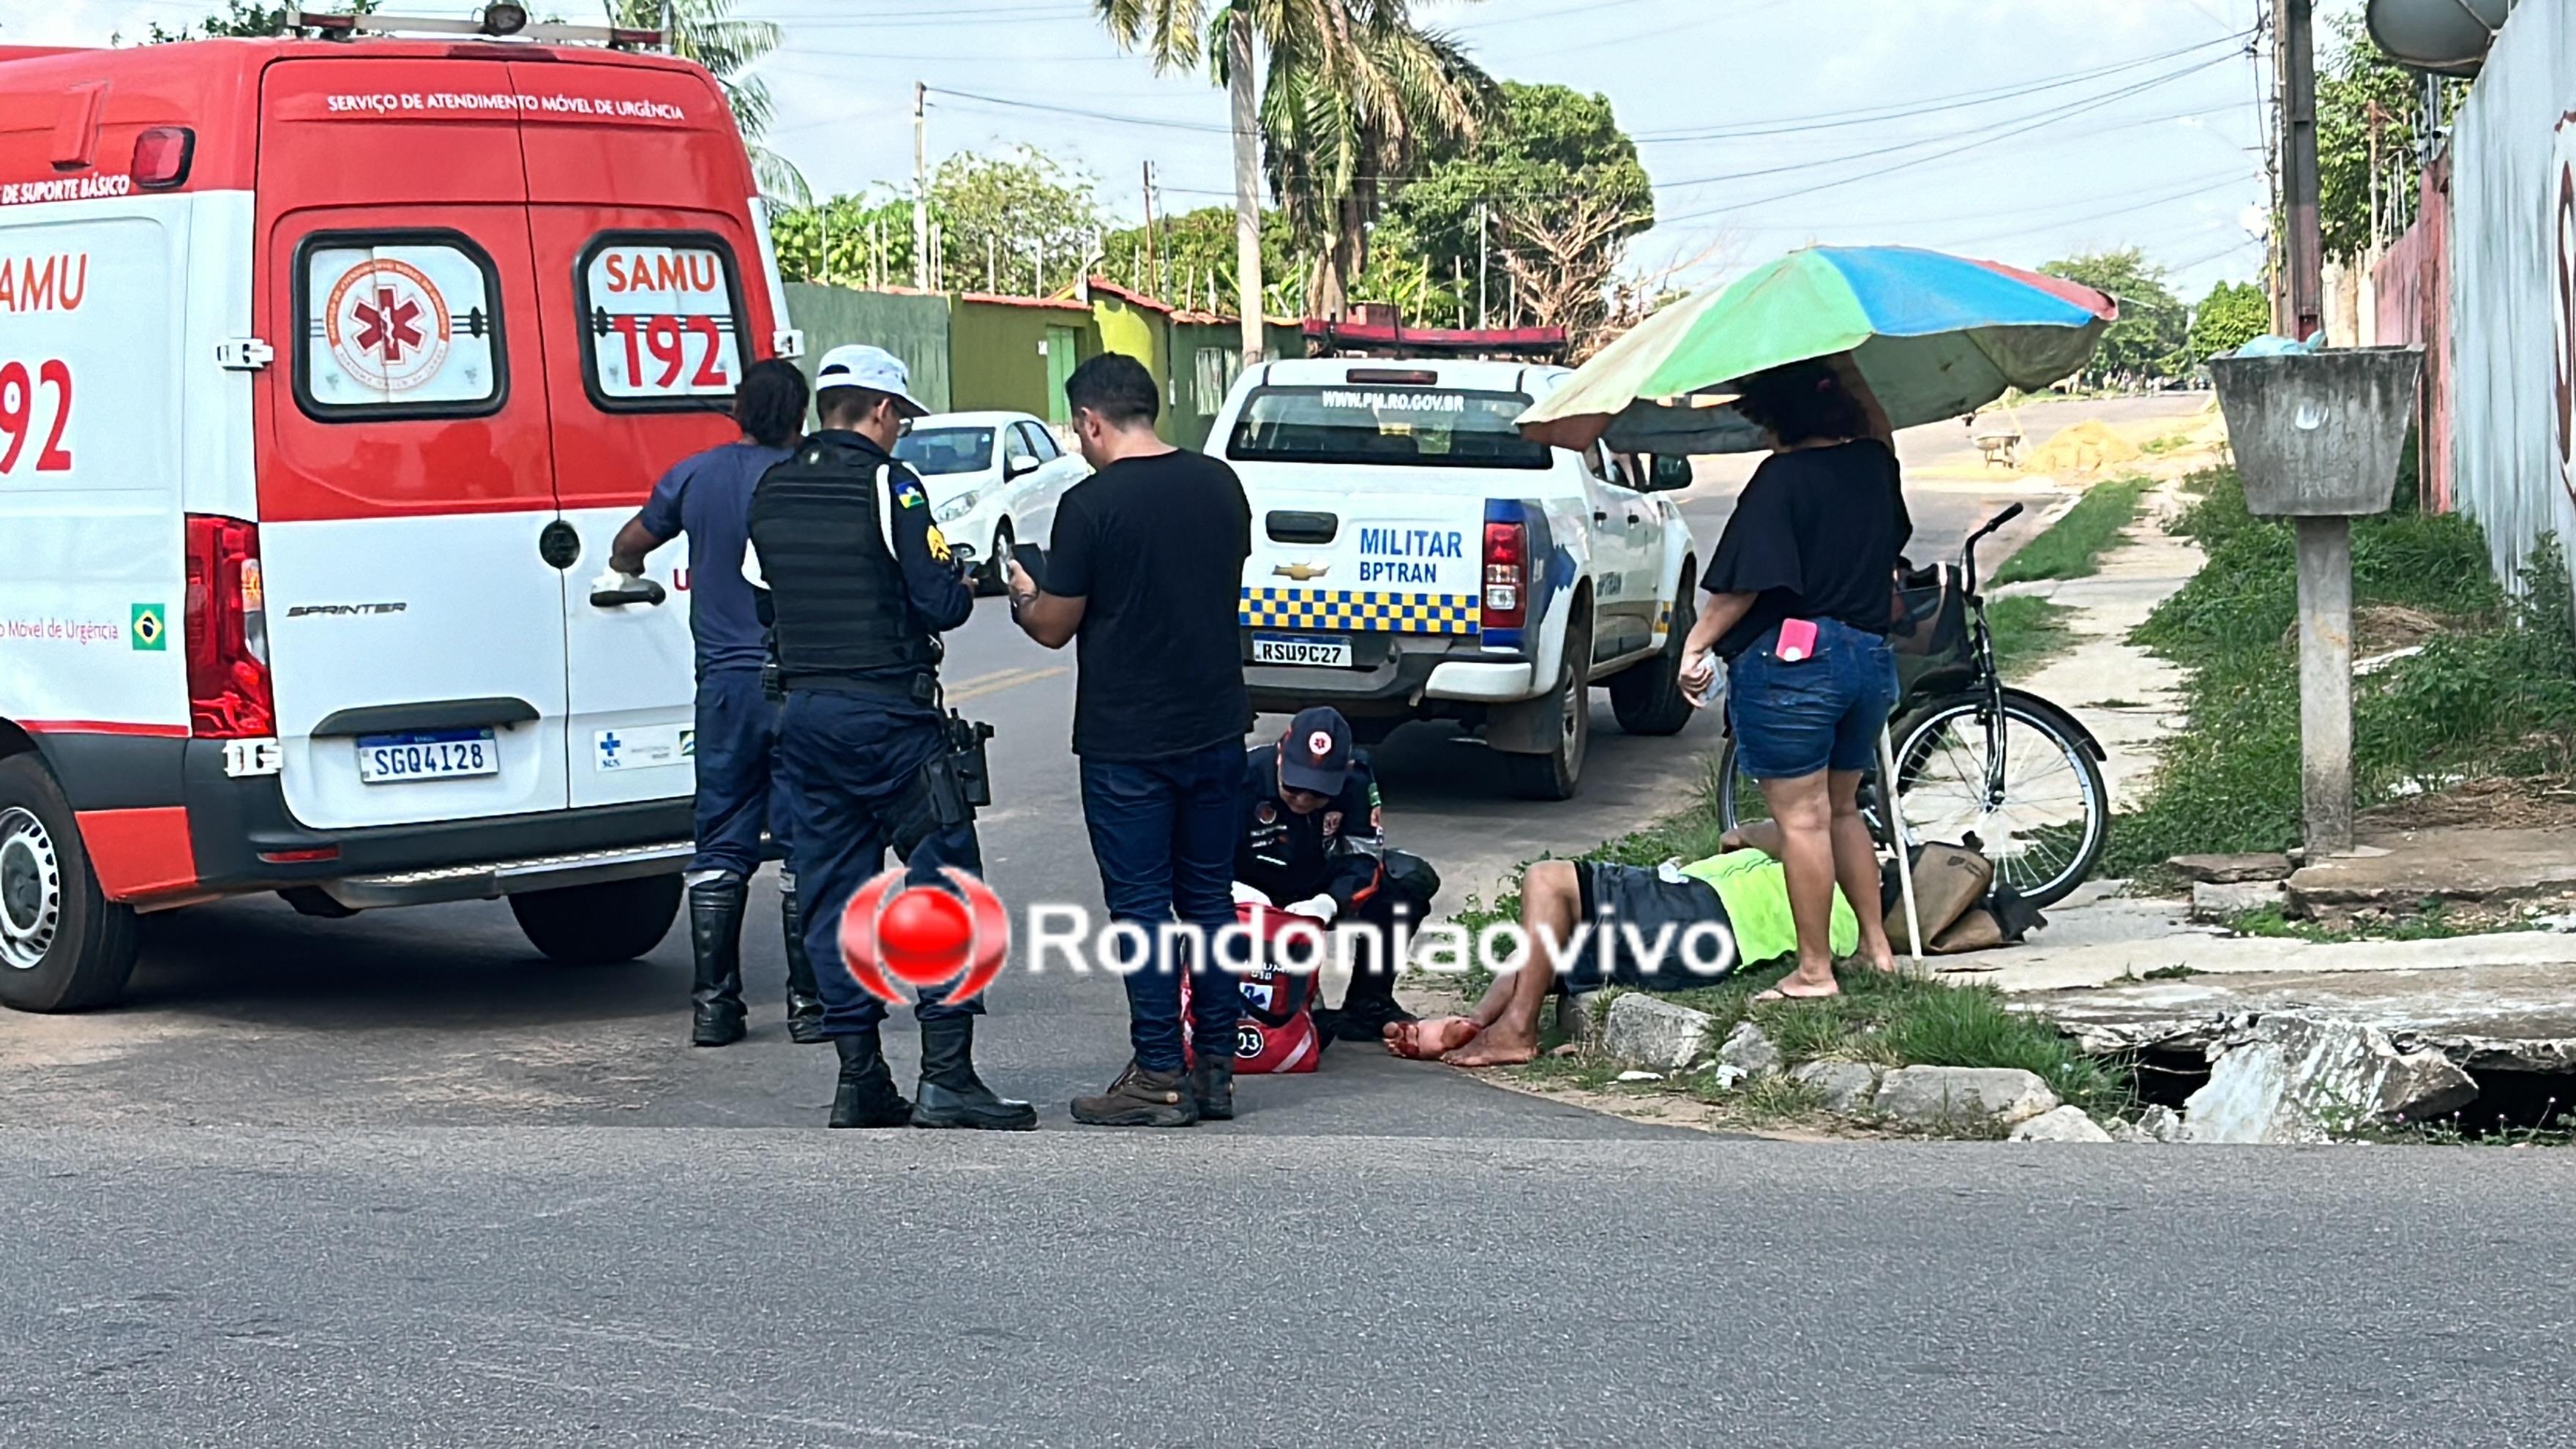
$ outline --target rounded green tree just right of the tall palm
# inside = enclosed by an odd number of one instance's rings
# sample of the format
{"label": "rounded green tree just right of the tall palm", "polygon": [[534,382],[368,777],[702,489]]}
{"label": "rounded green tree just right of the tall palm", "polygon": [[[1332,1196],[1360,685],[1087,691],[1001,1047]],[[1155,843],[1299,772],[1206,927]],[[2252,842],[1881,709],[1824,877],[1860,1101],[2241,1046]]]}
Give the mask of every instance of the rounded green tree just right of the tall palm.
{"label": "rounded green tree just right of the tall palm", "polygon": [[1510,278],[1528,320],[1584,335],[1607,322],[1628,240],[1654,224],[1654,186],[1607,95],[1507,80],[1497,116],[1386,214],[1378,240],[1409,242],[1448,307],[1473,312],[1484,266],[1489,315]]}

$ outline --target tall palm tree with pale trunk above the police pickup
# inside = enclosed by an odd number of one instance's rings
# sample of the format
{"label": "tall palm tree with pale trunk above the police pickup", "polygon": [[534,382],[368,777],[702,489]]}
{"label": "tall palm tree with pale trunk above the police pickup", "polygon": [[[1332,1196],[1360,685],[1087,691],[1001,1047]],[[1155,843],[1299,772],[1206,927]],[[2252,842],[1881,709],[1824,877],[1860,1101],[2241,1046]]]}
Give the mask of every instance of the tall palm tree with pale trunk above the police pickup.
{"label": "tall palm tree with pale trunk above the police pickup", "polygon": [[[1270,188],[1291,224],[1314,242],[1306,302],[1340,317],[1350,281],[1368,263],[1368,227],[1383,180],[1427,147],[1473,139],[1499,88],[1450,36],[1412,21],[1412,0],[1092,0],[1110,36],[1154,57],[1154,70],[1190,70],[1208,54],[1234,111],[1236,278],[1244,299],[1244,361],[1260,361],[1260,196],[1265,142]],[[1270,52],[1255,98],[1255,39]]]}

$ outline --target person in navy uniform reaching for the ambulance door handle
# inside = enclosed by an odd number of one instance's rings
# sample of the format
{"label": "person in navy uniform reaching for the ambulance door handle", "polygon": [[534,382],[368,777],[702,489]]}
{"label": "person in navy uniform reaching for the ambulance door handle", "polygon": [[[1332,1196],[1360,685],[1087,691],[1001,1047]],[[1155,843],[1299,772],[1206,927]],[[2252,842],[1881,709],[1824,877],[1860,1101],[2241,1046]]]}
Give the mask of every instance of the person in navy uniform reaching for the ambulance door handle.
{"label": "person in navy uniform reaching for the ambulance door handle", "polygon": [[[742,910],[752,871],[770,853],[786,856],[788,820],[773,797],[778,706],[760,686],[768,629],[752,585],[742,578],[742,539],[752,485],[788,456],[804,431],[806,382],[796,364],[757,361],[734,392],[742,438],[690,454],[652,487],[644,511],[618,529],[608,552],[608,590],[639,590],[644,554],[688,534],[688,629],[698,645],[698,853],[688,861],[688,949],[693,1047],[742,1039]],[[788,949],[788,1036],[822,1042],[822,995],[806,957],[793,871],[778,874],[778,915]]]}

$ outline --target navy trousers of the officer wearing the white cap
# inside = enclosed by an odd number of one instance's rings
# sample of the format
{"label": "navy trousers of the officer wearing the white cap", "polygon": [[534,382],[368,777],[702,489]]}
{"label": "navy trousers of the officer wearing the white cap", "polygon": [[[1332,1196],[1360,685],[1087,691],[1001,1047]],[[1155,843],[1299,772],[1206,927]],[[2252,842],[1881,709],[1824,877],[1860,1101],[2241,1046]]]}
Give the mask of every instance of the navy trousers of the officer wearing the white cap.
{"label": "navy trousers of the officer wearing the white cap", "polygon": [[[886,1018],[886,1003],[863,990],[840,957],[840,913],[886,866],[886,848],[904,856],[907,884],[953,890],[940,866],[984,871],[974,822],[943,830],[927,815],[917,776],[943,748],[940,717],[917,704],[796,691],[781,714],[778,768],[796,815],[788,869],[804,900],[824,1036],[873,1031]],[[922,987],[912,1006],[922,1021],[981,1011],[984,998],[951,1006],[943,987]]]}

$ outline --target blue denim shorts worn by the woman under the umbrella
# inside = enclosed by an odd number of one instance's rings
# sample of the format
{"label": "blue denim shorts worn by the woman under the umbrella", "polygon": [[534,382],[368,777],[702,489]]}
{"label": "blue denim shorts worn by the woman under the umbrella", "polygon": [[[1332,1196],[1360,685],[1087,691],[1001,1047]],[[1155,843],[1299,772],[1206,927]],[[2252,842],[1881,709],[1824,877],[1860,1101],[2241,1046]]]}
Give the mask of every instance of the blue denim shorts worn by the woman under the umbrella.
{"label": "blue denim shorts worn by the woman under the umbrella", "polygon": [[1896,709],[1896,652],[1868,629],[1816,621],[1816,652],[1780,663],[1780,632],[1767,629],[1726,665],[1726,724],[1736,761],[1754,779],[1865,771],[1878,730]]}

